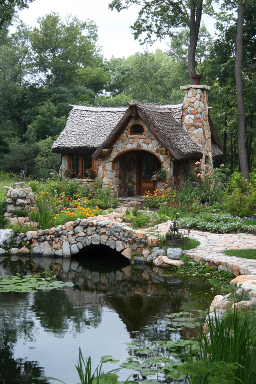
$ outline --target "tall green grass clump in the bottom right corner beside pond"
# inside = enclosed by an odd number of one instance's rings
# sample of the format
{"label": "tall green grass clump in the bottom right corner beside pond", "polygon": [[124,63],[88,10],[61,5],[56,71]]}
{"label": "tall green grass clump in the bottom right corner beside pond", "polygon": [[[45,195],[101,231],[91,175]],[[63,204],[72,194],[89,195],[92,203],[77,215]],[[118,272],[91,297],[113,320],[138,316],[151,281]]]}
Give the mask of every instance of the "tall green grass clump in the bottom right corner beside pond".
{"label": "tall green grass clump in the bottom right corner beside pond", "polygon": [[209,333],[201,333],[197,359],[186,355],[180,371],[187,373],[190,384],[255,384],[256,332],[255,313],[237,308],[222,321],[215,313],[208,320]]}

